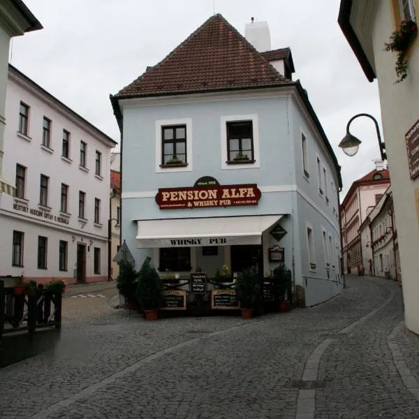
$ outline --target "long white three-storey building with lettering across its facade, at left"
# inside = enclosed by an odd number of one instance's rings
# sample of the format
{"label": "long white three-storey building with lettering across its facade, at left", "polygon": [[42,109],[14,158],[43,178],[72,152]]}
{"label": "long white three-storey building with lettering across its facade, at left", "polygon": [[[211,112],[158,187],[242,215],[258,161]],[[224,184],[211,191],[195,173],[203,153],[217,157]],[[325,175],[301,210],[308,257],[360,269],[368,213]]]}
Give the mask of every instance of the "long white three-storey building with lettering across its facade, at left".
{"label": "long white three-storey building with lettering across its facade, at left", "polygon": [[8,68],[0,196],[2,275],[38,282],[108,278],[112,138],[13,66]]}

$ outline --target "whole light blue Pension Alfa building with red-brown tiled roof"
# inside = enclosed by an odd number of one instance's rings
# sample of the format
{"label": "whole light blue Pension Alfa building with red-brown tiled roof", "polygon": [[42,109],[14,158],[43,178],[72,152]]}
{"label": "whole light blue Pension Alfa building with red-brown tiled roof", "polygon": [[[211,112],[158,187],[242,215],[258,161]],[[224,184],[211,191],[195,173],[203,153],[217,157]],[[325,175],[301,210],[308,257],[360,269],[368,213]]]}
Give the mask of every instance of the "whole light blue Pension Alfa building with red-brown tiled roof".
{"label": "whole light blue Pension Alfa building with red-brown tiled roof", "polygon": [[111,96],[122,239],[137,269],[148,256],[162,276],[267,276],[284,261],[310,306],[343,287],[340,168],[291,51],[258,40],[262,52],[214,15]]}

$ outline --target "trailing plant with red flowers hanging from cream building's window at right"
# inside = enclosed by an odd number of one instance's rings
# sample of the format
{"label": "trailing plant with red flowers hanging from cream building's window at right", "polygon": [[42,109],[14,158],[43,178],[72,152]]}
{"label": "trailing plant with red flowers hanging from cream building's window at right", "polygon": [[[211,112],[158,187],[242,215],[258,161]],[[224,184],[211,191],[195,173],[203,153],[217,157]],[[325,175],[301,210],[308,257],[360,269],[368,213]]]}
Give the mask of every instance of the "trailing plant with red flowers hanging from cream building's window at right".
{"label": "trailing plant with red flowers hanging from cream building's window at right", "polygon": [[402,82],[407,77],[406,52],[413,39],[418,34],[418,26],[413,20],[403,20],[400,27],[390,35],[390,42],[384,43],[385,51],[393,51],[397,54],[396,83]]}

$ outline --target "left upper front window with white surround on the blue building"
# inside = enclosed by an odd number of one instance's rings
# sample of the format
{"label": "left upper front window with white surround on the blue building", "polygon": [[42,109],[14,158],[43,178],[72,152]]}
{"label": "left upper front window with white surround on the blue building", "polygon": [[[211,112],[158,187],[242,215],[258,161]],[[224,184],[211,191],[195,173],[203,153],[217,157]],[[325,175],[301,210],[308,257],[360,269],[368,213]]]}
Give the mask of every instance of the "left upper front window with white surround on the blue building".
{"label": "left upper front window with white surround on the blue building", "polygon": [[192,165],[192,119],[156,121],[156,172],[190,172]]}

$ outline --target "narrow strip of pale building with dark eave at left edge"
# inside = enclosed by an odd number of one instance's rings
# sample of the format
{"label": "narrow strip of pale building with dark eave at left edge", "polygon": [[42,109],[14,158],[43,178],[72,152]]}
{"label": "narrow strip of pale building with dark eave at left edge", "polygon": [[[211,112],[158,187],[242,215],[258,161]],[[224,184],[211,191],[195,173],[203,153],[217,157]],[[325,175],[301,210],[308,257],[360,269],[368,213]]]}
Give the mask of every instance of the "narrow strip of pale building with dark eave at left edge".
{"label": "narrow strip of pale building with dark eave at left edge", "polygon": [[0,193],[13,195],[15,185],[12,179],[3,176],[3,131],[6,126],[5,105],[10,38],[25,32],[42,29],[41,23],[32,15],[22,0],[0,2]]}

